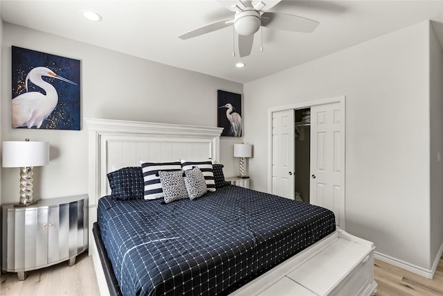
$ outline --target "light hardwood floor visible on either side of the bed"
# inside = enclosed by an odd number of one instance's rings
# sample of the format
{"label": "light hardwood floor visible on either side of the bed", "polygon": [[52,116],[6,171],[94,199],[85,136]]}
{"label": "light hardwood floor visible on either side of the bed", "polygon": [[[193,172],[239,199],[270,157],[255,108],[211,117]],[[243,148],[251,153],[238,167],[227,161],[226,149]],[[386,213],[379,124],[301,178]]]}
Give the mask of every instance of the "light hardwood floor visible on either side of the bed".
{"label": "light hardwood floor visible on either side of the bed", "polygon": [[[377,296],[443,295],[443,257],[432,280],[382,261],[376,260],[374,265]],[[85,252],[71,267],[66,261],[33,270],[25,281],[19,281],[15,273],[1,275],[0,295],[99,295],[92,257]]]}

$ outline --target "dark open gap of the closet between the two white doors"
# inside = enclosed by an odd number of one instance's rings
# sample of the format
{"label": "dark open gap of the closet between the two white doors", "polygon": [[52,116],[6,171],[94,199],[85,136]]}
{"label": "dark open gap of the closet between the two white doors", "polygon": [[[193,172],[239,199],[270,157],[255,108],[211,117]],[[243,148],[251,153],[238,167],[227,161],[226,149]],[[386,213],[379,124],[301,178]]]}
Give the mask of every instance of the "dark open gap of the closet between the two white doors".
{"label": "dark open gap of the closet between the two white doors", "polygon": [[294,180],[296,200],[309,203],[311,164],[311,108],[295,110],[294,123]]}

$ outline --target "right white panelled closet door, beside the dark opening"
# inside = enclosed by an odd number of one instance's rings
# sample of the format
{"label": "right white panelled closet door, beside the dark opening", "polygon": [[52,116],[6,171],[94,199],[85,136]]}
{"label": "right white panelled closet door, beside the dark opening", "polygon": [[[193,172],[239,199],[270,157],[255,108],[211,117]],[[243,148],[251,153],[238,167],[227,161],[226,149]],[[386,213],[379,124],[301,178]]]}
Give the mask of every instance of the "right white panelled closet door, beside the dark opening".
{"label": "right white panelled closet door, beside the dark opening", "polygon": [[345,135],[339,103],[311,107],[310,202],[334,211],[345,224]]}

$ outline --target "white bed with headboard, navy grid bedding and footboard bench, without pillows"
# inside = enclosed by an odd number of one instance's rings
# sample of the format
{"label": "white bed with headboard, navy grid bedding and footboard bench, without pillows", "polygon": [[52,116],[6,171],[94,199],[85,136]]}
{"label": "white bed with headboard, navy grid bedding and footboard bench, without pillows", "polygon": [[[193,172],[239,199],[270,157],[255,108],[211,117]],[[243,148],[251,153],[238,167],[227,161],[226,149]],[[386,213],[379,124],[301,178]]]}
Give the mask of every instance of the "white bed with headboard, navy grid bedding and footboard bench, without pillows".
{"label": "white bed with headboard, navy grid bedding and footboard bench, without pillows", "polygon": [[[374,293],[373,244],[336,230],[327,209],[233,185],[168,204],[109,196],[107,173],[140,159],[219,162],[219,128],[86,121],[89,252],[102,295]],[[322,275],[328,266],[333,276]],[[310,283],[316,275],[327,280]]]}

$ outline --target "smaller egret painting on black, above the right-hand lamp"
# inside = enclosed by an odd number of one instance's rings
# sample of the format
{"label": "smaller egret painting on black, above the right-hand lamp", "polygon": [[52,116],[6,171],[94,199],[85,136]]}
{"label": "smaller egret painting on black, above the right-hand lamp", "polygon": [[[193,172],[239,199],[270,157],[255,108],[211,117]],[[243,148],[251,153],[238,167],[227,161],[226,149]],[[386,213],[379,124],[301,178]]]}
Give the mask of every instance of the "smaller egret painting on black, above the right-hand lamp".
{"label": "smaller egret painting on black, above the right-hand lamp", "polygon": [[242,137],[242,95],[217,90],[217,126],[223,128],[221,136]]}

